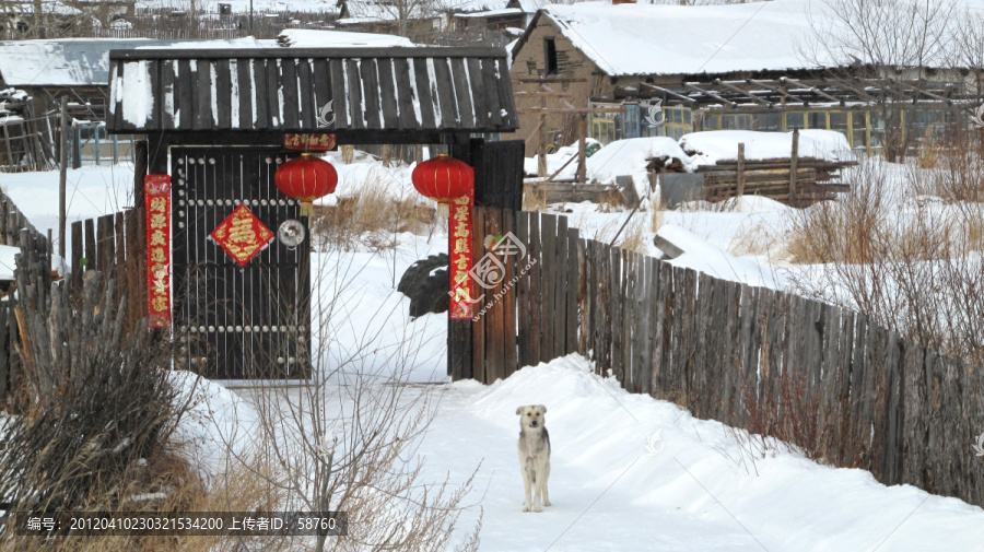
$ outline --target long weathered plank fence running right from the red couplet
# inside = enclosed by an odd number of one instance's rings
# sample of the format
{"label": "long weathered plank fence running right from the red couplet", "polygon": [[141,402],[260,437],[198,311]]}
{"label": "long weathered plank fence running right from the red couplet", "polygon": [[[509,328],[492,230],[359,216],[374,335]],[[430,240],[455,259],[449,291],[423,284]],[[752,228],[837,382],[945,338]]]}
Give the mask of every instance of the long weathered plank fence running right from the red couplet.
{"label": "long weathered plank fence running right from the red couplet", "polygon": [[984,505],[980,368],[851,310],[584,239],[564,216],[478,207],[475,258],[507,232],[526,255],[496,256],[505,278],[484,290],[470,334],[452,334],[472,359],[454,378],[491,383],[578,352],[695,416]]}

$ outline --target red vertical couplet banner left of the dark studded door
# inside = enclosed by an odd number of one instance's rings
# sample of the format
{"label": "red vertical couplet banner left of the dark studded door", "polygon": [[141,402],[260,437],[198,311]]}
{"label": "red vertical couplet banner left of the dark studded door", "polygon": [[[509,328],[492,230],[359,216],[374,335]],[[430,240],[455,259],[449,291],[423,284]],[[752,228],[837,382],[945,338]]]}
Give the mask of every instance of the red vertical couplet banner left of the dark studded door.
{"label": "red vertical couplet banner left of the dark studded door", "polygon": [[143,177],[147,216],[147,325],[171,327],[171,176]]}

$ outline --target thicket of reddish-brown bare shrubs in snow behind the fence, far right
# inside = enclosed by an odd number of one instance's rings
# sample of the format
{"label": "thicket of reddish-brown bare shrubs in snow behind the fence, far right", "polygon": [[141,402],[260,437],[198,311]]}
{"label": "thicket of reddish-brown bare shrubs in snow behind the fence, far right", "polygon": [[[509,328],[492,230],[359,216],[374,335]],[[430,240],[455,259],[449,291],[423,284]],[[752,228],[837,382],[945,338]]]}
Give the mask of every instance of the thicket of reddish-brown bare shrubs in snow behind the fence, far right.
{"label": "thicket of reddish-brown bare shrubs in snow behind the fence, far right", "polygon": [[[854,189],[796,216],[794,261],[818,265],[800,293],[854,308],[907,340],[984,365],[984,171],[975,144],[937,168],[865,163]],[[890,197],[889,171],[898,178]]]}

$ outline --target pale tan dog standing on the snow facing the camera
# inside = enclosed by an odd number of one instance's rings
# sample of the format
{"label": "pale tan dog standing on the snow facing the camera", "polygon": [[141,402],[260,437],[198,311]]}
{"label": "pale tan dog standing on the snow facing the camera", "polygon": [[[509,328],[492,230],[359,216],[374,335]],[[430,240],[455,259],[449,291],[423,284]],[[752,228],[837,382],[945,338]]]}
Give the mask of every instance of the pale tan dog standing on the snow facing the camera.
{"label": "pale tan dog standing on the snow facing the camera", "polygon": [[[547,433],[547,407],[532,404],[516,409],[519,416],[519,471],[526,486],[523,512],[542,512],[550,506],[547,480],[550,479],[550,434]],[[532,492],[532,494],[530,494]]]}

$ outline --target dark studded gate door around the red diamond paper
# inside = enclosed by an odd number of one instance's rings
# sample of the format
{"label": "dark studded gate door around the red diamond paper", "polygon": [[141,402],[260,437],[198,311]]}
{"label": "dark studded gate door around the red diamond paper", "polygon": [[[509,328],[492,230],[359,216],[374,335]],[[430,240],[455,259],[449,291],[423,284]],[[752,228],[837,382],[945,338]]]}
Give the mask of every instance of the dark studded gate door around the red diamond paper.
{"label": "dark studded gate door around the red diamond paper", "polygon": [[[278,148],[172,148],[174,324],[184,364],[222,379],[303,378],[311,374],[311,244],[296,201],[273,183],[291,154]],[[273,234],[239,265],[210,234],[246,205]],[[304,223],[290,248],[281,223]]]}

